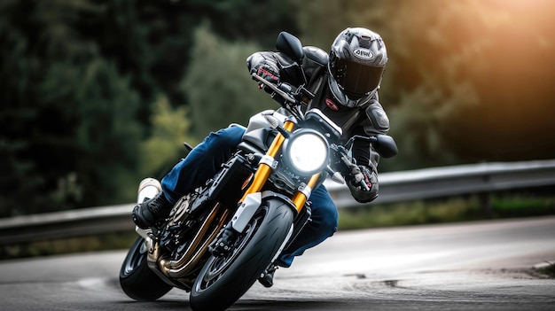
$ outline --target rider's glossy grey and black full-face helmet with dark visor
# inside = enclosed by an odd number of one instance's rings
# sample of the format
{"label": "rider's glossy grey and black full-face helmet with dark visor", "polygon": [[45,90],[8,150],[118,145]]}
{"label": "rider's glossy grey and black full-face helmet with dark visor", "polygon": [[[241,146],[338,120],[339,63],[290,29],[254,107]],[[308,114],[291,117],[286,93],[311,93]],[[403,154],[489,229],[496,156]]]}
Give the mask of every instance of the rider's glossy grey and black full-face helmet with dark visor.
{"label": "rider's glossy grey and black full-face helmet with dark visor", "polygon": [[386,44],[366,28],[347,28],[330,52],[328,84],[333,97],[348,107],[367,103],[379,89],[387,64]]}

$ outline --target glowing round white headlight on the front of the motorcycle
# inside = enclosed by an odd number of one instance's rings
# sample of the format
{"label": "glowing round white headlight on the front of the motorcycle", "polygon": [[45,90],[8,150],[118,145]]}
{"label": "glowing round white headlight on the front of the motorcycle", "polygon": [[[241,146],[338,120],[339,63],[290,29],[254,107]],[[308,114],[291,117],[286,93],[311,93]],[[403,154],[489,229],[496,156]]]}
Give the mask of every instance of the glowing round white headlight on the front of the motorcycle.
{"label": "glowing round white headlight on the front of the motorcycle", "polygon": [[289,136],[284,146],[287,165],[299,175],[313,175],[327,165],[328,144],[315,130],[301,129]]}

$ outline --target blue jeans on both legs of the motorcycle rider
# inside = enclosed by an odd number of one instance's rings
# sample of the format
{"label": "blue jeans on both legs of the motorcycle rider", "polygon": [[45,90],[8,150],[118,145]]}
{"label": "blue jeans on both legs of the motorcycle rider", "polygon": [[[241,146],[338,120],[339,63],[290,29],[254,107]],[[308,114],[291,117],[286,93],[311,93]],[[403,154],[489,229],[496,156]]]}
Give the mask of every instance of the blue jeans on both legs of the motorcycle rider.
{"label": "blue jeans on both legs of the motorcycle rider", "polygon": [[[230,159],[232,152],[241,141],[244,128],[230,127],[210,133],[185,159],[162,179],[162,190],[172,204],[185,194],[198,188],[220,170]],[[330,193],[321,185],[312,191],[312,221],[307,223],[293,244],[287,247],[277,259],[277,265],[290,267],[295,256],[322,243],[337,231],[339,215]]]}

